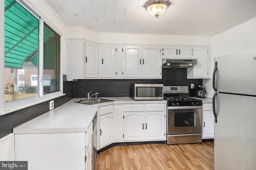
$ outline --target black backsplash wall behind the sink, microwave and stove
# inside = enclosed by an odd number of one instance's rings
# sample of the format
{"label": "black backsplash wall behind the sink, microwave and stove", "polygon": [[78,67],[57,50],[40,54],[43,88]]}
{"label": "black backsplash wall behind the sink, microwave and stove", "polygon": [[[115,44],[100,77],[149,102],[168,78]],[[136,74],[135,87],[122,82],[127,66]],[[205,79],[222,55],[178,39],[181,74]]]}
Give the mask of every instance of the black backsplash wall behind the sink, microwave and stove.
{"label": "black backsplash wall behind the sink, microwave and stove", "polygon": [[[131,84],[142,83],[164,84],[164,86],[189,86],[189,94],[194,96],[195,90],[190,84],[202,85],[202,79],[187,79],[186,68],[163,68],[162,79],[114,79],[114,80],[78,80],[74,82],[74,98],[85,98],[90,91],[99,92],[98,97],[130,97]],[[93,94],[93,93],[92,93]],[[184,96],[184,95],[182,95]]]}

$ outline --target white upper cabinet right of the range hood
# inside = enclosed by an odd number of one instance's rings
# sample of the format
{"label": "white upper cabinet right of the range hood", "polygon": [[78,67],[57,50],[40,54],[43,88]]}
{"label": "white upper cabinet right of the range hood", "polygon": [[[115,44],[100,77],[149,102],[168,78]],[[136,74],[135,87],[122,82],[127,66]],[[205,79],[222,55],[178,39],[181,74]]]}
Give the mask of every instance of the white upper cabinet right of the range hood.
{"label": "white upper cabinet right of the range hood", "polygon": [[210,48],[195,47],[196,65],[187,68],[187,78],[211,78],[210,74]]}

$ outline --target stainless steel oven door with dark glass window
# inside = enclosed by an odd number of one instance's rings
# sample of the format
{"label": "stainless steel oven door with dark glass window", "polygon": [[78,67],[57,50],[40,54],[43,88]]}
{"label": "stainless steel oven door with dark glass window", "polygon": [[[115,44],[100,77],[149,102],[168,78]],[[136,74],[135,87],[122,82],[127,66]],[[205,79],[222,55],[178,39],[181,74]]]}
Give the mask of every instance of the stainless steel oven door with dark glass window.
{"label": "stainless steel oven door with dark glass window", "polygon": [[168,107],[167,134],[202,133],[202,106]]}

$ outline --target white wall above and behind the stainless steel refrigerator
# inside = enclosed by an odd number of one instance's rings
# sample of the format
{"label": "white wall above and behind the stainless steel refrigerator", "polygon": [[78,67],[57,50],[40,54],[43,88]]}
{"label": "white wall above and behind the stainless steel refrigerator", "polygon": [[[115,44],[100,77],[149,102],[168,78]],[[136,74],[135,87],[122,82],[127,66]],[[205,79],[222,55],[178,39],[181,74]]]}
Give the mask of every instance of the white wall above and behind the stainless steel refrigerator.
{"label": "white wall above and behind the stainless steel refrigerator", "polygon": [[[250,49],[256,49],[256,18],[246,21],[222,33],[211,37],[212,45],[212,73],[214,70],[214,57],[228,55]],[[204,80],[207,88],[207,97],[212,98],[214,90],[212,79]]]}

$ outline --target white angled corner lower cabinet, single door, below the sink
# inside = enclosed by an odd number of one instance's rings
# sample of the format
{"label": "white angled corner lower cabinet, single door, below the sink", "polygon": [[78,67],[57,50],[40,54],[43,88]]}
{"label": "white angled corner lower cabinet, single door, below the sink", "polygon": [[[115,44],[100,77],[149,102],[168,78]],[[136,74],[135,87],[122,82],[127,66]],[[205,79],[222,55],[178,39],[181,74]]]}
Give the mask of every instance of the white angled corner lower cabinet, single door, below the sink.
{"label": "white angled corner lower cabinet, single door, below the sink", "polygon": [[99,108],[98,149],[113,143],[113,106]]}

